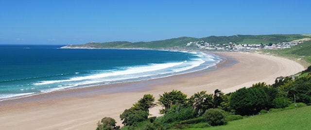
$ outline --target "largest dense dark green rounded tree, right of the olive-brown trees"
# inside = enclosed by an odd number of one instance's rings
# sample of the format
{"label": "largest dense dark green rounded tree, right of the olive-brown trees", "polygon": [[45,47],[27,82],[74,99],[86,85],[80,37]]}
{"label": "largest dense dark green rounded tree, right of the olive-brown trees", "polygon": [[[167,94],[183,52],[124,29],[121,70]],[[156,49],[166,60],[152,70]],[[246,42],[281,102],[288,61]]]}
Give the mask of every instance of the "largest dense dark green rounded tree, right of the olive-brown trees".
{"label": "largest dense dark green rounded tree, right of the olive-brown trees", "polygon": [[251,115],[267,106],[267,94],[262,88],[250,87],[241,88],[232,93],[230,107],[235,109],[239,115]]}

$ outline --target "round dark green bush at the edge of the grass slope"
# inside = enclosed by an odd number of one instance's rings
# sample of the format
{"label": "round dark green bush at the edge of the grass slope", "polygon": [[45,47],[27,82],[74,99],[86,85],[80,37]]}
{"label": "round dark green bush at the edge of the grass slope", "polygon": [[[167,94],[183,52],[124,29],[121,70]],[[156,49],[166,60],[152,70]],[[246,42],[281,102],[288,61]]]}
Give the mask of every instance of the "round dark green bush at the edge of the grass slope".
{"label": "round dark green bush at the edge of the grass slope", "polygon": [[225,121],[225,114],[221,109],[208,109],[202,117],[211,126],[224,125],[227,123]]}

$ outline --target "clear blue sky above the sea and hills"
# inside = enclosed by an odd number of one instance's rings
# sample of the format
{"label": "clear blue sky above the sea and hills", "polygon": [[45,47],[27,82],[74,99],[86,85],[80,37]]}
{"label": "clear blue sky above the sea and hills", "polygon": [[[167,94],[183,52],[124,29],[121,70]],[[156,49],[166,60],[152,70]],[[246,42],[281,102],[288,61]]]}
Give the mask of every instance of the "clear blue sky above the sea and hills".
{"label": "clear blue sky above the sea and hills", "polygon": [[310,34],[311,0],[0,0],[0,44]]}

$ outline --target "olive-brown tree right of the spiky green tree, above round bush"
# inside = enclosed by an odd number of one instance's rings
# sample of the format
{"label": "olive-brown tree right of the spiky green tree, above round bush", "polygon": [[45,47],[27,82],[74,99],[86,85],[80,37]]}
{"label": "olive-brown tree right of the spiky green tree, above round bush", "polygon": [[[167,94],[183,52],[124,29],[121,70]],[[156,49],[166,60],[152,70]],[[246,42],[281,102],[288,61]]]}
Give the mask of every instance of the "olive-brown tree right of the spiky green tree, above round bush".
{"label": "olive-brown tree right of the spiky green tree, above round bush", "polygon": [[188,99],[188,106],[191,106],[198,115],[202,115],[209,108],[213,108],[213,95],[206,91],[195,93]]}

